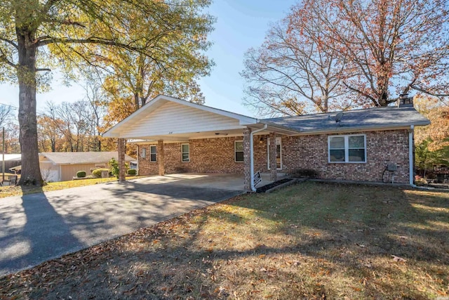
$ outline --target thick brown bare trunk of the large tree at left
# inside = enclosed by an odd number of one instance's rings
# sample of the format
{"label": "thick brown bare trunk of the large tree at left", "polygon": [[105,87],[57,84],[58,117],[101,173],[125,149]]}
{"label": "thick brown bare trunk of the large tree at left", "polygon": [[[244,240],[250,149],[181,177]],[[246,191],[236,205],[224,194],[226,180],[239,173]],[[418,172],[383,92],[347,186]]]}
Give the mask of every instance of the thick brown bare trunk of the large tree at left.
{"label": "thick brown bare trunk of the large tree at left", "polygon": [[42,185],[36,122],[36,45],[33,32],[16,28],[18,37],[19,141],[22,176],[19,185]]}

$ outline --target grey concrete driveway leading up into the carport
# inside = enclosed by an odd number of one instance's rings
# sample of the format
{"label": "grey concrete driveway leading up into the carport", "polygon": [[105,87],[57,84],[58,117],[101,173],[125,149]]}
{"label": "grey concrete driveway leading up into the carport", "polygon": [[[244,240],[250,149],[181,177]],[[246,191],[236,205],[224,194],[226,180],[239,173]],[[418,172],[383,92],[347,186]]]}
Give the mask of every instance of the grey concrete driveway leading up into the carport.
{"label": "grey concrete driveway leading up into the carport", "polygon": [[0,198],[0,275],[239,195],[240,180],[175,174]]}

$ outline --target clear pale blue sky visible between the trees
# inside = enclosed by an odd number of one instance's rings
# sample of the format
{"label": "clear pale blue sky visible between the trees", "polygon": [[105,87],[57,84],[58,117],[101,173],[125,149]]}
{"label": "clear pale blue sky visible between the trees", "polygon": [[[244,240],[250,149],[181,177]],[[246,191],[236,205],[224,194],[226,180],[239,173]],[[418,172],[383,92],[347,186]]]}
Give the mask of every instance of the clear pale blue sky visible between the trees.
{"label": "clear pale blue sky visible between the trees", "polygon": [[[215,61],[209,77],[200,85],[206,105],[242,115],[257,117],[243,102],[243,54],[250,47],[262,44],[269,23],[280,20],[295,1],[270,0],[215,0],[209,13],[217,18],[215,31],[210,34],[213,46],[208,56]],[[43,110],[47,100],[55,103],[76,101],[83,98],[83,89],[73,84],[62,86],[56,78],[53,89],[37,95],[37,110]],[[18,86],[0,85],[0,103],[18,106]]]}

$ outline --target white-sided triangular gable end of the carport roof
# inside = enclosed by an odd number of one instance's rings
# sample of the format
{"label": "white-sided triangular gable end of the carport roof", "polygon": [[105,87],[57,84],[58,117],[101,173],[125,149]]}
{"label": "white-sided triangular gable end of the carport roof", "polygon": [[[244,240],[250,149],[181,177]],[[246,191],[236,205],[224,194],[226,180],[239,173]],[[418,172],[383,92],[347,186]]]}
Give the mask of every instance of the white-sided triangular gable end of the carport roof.
{"label": "white-sided triangular gable end of the carport roof", "polygon": [[133,127],[124,130],[121,136],[144,138],[243,128],[245,126],[239,124],[239,119],[168,101],[136,122]]}

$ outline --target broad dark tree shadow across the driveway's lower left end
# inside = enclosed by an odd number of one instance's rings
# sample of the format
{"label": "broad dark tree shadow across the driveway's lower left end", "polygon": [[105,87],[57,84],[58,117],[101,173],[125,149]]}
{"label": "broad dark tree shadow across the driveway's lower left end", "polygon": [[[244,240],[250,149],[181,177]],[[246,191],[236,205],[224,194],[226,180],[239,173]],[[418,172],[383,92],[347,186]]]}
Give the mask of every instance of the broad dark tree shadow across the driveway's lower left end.
{"label": "broad dark tree shadow across the driveway's lower left end", "polygon": [[0,211],[0,275],[85,247],[45,194],[25,195],[21,200]]}

